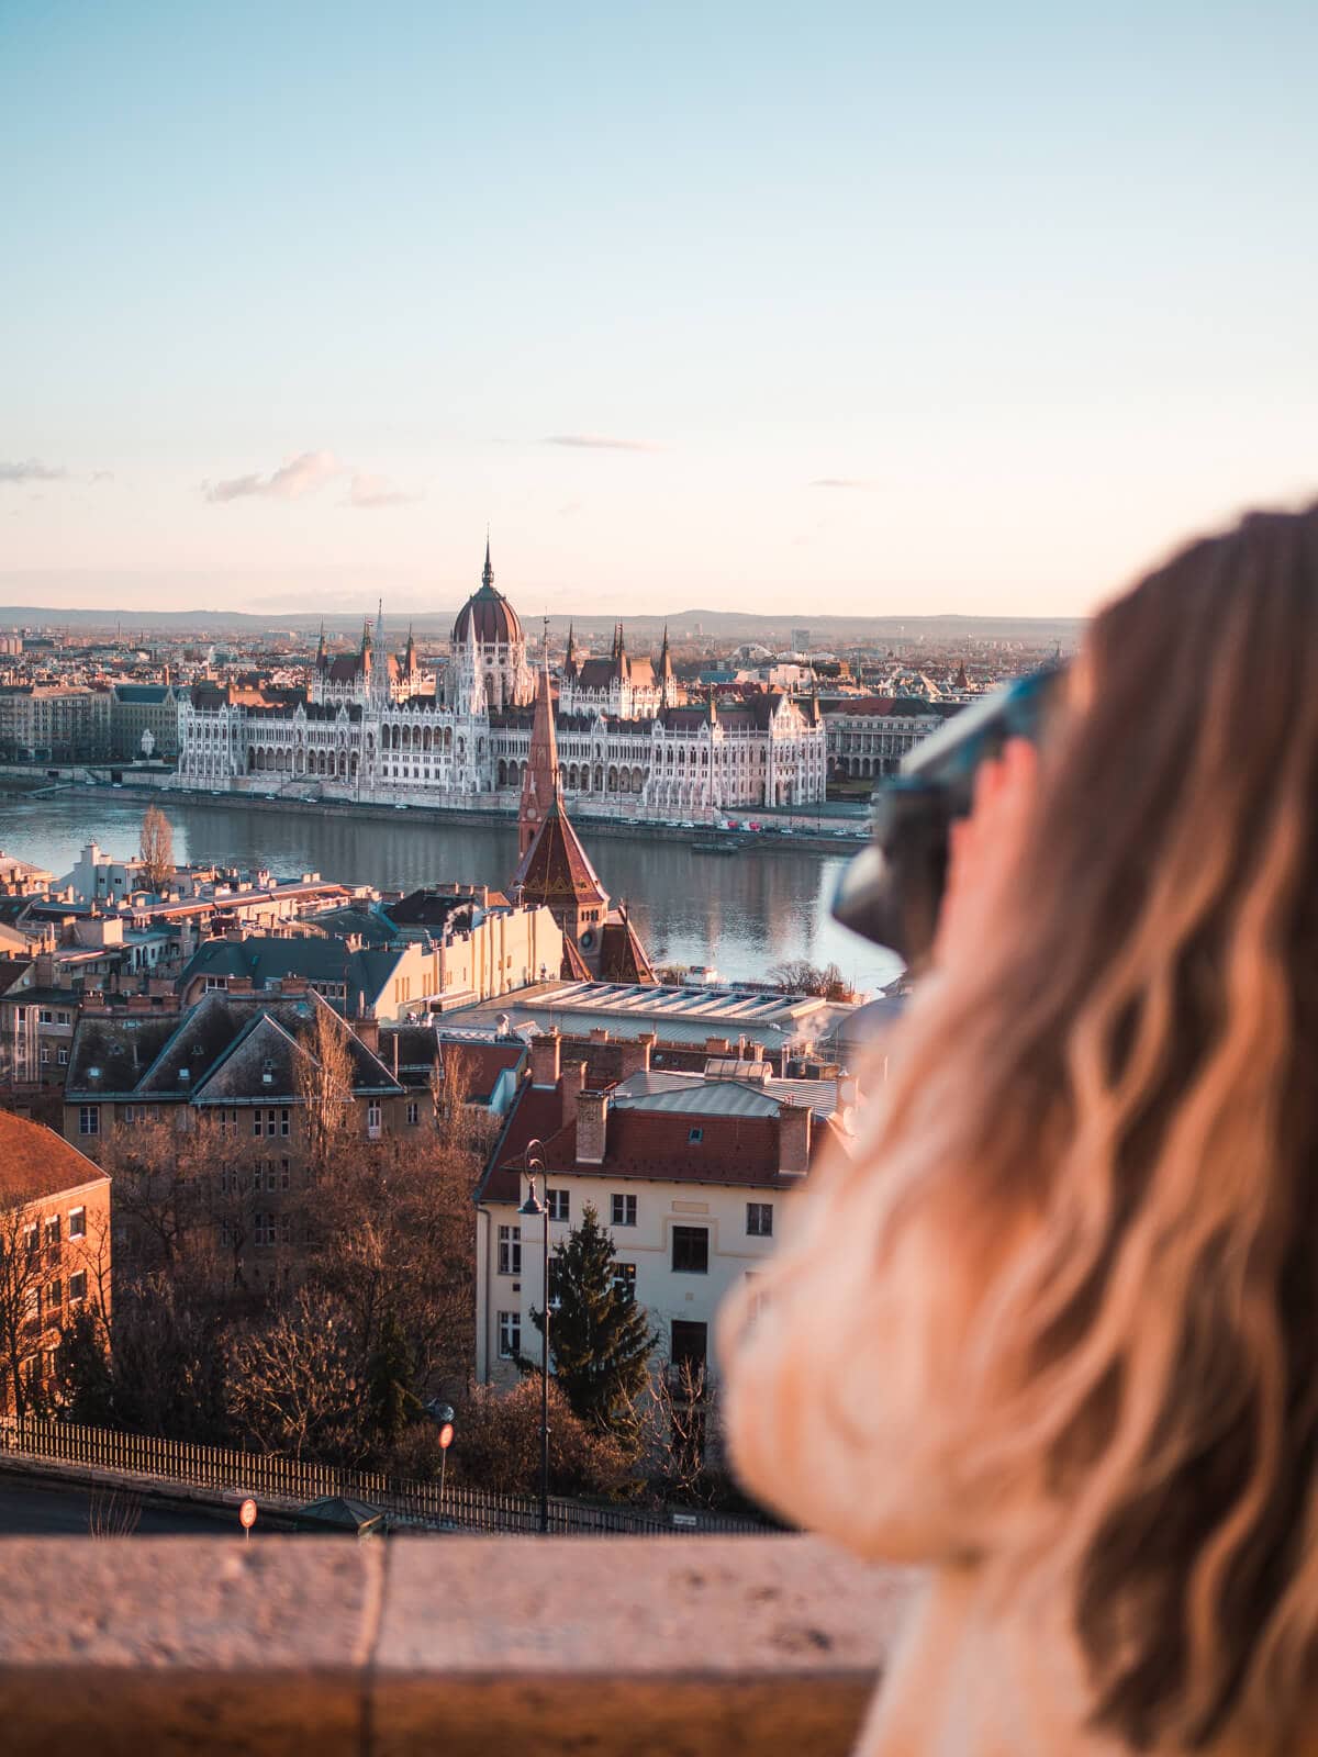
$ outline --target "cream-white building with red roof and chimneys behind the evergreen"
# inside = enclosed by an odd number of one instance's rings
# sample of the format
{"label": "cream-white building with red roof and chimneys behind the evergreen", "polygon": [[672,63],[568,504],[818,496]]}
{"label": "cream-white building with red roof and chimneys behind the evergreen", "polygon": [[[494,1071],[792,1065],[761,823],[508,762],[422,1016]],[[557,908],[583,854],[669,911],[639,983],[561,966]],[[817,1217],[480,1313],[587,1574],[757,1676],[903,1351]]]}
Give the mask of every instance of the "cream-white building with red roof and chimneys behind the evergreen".
{"label": "cream-white building with red roof and chimneys behind the evergreen", "polygon": [[482,1383],[515,1383],[517,1356],[540,1353],[545,1221],[518,1214],[532,1177],[548,1195],[550,1251],[592,1205],[659,1334],[657,1363],[717,1377],[719,1305],[763,1269],[812,1167],[844,1140],[836,1081],[775,1081],[763,1061],[659,1074],[650,1044],[629,1045],[638,1066],[603,1091],[587,1084],[589,1061],[561,1065],[555,1033],[531,1045],[531,1082],[478,1193]]}

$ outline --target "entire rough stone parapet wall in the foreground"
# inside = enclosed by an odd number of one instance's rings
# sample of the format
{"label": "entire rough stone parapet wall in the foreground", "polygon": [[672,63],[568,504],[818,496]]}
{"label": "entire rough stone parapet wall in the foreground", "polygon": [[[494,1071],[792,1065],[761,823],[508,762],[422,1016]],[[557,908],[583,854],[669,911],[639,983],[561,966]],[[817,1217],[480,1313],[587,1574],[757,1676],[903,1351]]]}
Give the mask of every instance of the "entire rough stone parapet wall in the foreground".
{"label": "entire rough stone parapet wall in the foreground", "polygon": [[5,1750],[844,1757],[910,1580],[810,1537],[11,1537]]}

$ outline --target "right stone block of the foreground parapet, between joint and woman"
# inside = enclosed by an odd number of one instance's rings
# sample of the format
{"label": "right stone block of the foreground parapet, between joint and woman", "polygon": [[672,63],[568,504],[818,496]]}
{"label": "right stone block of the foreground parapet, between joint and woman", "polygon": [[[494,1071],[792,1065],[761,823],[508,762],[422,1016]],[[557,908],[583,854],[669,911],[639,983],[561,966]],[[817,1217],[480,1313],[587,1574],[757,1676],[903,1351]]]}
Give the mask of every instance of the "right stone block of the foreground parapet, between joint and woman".
{"label": "right stone block of the foreground parapet, between joint and woman", "polygon": [[807,1537],[401,1539],[373,1750],[844,1753],[909,1592]]}

